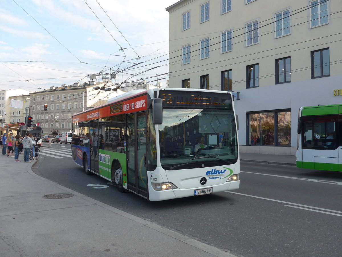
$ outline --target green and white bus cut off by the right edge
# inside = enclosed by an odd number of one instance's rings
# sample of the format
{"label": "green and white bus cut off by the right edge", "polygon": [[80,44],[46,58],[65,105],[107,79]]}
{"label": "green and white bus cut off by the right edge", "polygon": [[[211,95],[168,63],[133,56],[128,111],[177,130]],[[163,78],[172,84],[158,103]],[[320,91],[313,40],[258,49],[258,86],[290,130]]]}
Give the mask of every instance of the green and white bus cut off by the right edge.
{"label": "green and white bus cut off by the right edge", "polygon": [[342,105],[301,107],[297,167],[342,171]]}

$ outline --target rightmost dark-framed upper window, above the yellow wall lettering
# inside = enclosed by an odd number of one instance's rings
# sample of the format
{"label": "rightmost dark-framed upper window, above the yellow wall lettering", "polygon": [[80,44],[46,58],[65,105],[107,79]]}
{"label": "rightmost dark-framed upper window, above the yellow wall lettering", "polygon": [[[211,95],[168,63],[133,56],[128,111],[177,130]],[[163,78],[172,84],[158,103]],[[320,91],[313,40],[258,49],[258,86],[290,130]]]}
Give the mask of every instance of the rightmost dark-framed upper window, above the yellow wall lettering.
{"label": "rightmost dark-framed upper window, above the yellow wall lettering", "polygon": [[311,78],[330,75],[329,48],[311,52]]}

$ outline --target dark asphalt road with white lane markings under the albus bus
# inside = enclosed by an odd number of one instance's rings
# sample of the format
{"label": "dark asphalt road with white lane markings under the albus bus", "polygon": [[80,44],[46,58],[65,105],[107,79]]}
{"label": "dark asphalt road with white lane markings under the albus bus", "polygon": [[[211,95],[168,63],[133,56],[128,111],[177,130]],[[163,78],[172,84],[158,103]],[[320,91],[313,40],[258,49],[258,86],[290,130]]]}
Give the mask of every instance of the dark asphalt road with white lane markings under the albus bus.
{"label": "dark asphalt road with white lane markings under the albus bus", "polygon": [[[53,150],[61,148],[70,149],[70,145],[40,149],[53,155]],[[238,256],[331,257],[342,253],[342,173],[241,162],[237,191],[149,202],[133,193],[119,193],[96,175],[87,176],[69,157],[45,155],[36,172]]]}

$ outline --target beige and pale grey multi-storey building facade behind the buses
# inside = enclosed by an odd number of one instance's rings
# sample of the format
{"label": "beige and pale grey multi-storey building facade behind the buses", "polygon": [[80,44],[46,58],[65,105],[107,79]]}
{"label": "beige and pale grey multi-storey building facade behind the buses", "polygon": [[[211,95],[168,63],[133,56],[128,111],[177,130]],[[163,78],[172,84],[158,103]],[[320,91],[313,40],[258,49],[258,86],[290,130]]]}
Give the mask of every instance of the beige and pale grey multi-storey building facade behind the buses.
{"label": "beige and pale grey multi-storey building facade behind the buses", "polygon": [[342,102],[341,9],[336,0],[178,1],[166,9],[169,87],[234,91],[240,151],[294,155],[299,108]]}

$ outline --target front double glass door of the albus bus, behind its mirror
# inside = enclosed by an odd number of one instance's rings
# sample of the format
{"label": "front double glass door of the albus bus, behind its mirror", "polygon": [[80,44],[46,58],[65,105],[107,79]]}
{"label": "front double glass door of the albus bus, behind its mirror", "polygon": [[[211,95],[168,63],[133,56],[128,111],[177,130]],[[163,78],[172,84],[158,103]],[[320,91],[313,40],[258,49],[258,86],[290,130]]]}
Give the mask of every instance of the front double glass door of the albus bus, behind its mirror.
{"label": "front double glass door of the albus bus, behind its mirror", "polygon": [[128,189],[147,198],[146,112],[127,115],[126,128]]}

